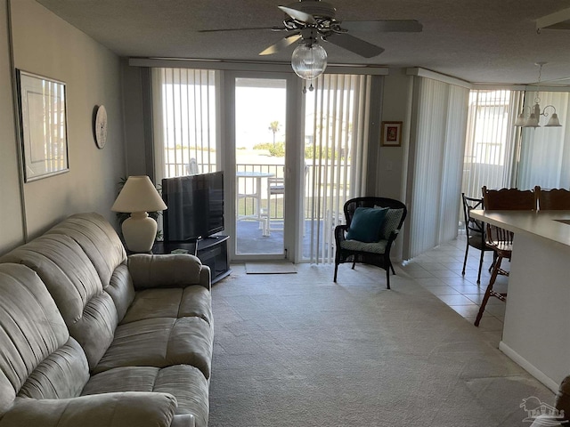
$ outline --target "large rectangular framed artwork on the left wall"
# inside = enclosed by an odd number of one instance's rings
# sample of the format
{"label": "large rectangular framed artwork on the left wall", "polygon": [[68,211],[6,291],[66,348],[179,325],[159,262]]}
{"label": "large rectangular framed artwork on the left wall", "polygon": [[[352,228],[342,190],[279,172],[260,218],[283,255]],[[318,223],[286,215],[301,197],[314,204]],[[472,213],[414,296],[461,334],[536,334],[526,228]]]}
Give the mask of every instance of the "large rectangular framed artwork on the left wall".
{"label": "large rectangular framed artwork on the left wall", "polygon": [[17,71],[25,181],[68,172],[65,83]]}

